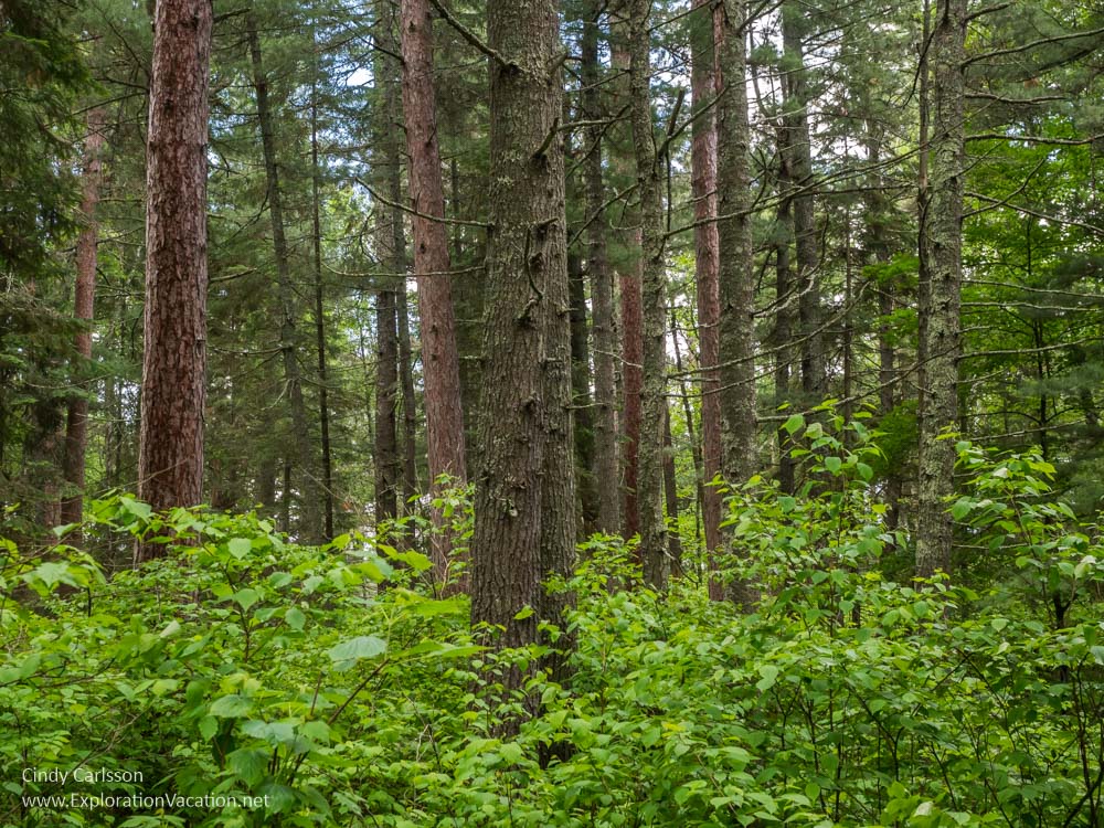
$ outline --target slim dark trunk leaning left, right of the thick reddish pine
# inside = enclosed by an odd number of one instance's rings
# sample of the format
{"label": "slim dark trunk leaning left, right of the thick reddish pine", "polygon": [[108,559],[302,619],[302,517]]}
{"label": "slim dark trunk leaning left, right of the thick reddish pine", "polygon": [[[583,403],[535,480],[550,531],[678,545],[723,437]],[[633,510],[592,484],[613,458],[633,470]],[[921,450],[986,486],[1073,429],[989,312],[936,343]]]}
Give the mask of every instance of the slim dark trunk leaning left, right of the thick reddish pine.
{"label": "slim dark trunk leaning left, right of the thick reddish pine", "polygon": [[[318,514],[318,486],[314,477],[310,450],[310,427],[307,424],[307,406],[302,399],[302,378],[296,342],[296,302],[291,284],[291,262],[284,231],[284,201],[279,187],[279,167],[276,160],[276,129],[273,124],[268,100],[268,78],[265,75],[261,54],[261,36],[257,21],[251,10],[246,15],[250,59],[253,64],[253,87],[257,99],[257,119],[261,121],[261,146],[265,158],[265,180],[267,182],[268,215],[273,229],[273,252],[276,255],[276,290],[279,300],[279,347],[284,365],[284,385],[291,414],[291,440],[284,463],[284,498],[290,503],[299,481],[299,503],[301,509],[299,531],[308,542],[317,542],[320,535]],[[287,507],[285,507],[285,511]]]}

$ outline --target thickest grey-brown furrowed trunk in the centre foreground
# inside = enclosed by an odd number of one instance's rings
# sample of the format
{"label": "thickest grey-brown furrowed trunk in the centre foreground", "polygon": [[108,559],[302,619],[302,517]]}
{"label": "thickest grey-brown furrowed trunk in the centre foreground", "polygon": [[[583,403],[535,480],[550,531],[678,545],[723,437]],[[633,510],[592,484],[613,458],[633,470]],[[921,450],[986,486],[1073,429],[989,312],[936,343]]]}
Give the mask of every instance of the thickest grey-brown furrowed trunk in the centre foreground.
{"label": "thickest grey-brown furrowed trunk in the centre foreground", "polygon": [[[506,646],[562,627],[550,574],[574,562],[571,330],[559,17],[550,0],[490,0],[490,203],[481,468],[476,486],[473,623]],[[534,613],[518,617],[531,606]],[[562,647],[562,641],[559,646]],[[563,675],[553,658],[549,669]],[[520,686],[521,676],[508,677]]]}

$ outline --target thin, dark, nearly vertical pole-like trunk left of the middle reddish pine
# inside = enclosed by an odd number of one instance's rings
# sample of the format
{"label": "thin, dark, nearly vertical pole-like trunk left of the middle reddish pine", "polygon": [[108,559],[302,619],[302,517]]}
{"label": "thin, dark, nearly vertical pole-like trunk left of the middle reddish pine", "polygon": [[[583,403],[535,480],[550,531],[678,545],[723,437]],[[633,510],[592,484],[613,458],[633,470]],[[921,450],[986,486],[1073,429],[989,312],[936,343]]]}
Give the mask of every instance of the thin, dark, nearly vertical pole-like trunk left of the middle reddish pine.
{"label": "thin, dark, nearly vertical pole-like trunk left of the middle reddish pine", "polygon": [[315,49],[315,73],[310,81],[310,204],[311,243],[315,266],[315,347],[318,349],[318,423],[322,449],[322,540],[333,540],[333,457],[330,450],[329,372],[326,365],[326,310],[322,283],[322,168],[318,163],[318,43]]}

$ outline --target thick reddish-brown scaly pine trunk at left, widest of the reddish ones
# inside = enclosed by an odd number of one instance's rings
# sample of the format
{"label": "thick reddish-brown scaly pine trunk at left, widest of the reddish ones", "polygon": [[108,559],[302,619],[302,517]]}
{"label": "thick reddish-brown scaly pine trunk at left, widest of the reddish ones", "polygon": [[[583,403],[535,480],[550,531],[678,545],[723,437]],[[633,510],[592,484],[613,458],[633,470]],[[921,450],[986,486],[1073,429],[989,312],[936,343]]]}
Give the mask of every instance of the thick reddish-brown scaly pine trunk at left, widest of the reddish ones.
{"label": "thick reddish-brown scaly pine trunk at left, widest of the reddish ones", "polygon": [[[138,496],[203,499],[210,0],[159,0],[146,172],[146,347]],[[138,562],[163,554],[139,545]]]}

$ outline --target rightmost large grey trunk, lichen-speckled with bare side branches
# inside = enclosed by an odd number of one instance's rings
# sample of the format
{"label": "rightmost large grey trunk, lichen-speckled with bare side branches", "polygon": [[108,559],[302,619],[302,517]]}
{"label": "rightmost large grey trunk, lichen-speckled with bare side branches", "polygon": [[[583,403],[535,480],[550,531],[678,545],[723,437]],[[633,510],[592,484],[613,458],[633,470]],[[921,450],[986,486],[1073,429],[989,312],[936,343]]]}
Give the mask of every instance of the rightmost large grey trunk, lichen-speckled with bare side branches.
{"label": "rightmost large grey trunk, lichen-speckled with bare side branches", "polygon": [[940,439],[940,435],[958,424],[966,26],[966,0],[940,0],[930,57],[935,112],[931,195],[924,213],[931,282],[916,516],[916,574],[922,577],[938,570],[951,572],[952,563],[954,526],[946,498],[954,492],[955,442]]}

